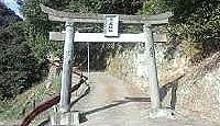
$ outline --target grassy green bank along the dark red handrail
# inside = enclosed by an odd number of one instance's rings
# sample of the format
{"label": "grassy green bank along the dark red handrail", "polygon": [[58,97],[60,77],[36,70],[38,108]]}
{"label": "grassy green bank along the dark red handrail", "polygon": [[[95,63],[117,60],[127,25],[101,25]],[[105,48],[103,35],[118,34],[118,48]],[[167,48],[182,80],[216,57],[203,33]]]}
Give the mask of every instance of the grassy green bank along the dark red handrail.
{"label": "grassy green bank along the dark red handrail", "polygon": [[[40,102],[43,102],[45,98],[58,93],[61,89],[59,83],[61,78],[56,76],[50,89],[46,88],[47,81],[45,81],[19,94],[14,100],[0,102],[0,121],[6,123],[21,121],[25,114],[30,113]],[[48,111],[45,113],[48,113]],[[35,124],[38,119],[38,123],[42,123],[42,121],[48,117],[48,114],[45,113],[41,114],[40,117],[37,116],[32,123]]]}

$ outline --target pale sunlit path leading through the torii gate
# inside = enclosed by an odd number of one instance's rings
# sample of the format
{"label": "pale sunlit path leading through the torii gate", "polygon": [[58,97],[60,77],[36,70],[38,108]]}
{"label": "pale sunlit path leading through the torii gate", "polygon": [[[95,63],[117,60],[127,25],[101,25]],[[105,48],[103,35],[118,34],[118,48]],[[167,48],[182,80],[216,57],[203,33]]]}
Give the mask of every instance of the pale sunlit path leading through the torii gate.
{"label": "pale sunlit path leading through the torii gate", "polygon": [[86,115],[82,126],[193,126],[172,119],[150,119],[150,98],[103,72],[91,73],[90,92],[72,111]]}

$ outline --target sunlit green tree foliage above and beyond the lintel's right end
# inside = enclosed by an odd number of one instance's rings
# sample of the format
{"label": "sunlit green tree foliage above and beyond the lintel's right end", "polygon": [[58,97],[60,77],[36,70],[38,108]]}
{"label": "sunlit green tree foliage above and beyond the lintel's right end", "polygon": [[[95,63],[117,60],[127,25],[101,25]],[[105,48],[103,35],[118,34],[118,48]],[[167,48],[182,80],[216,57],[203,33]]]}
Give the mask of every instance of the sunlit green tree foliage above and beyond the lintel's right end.
{"label": "sunlit green tree foliage above and beyond the lintel's right end", "polygon": [[183,39],[183,43],[189,43],[182,44],[186,46],[185,54],[191,56],[197,53],[200,55],[197,57],[205,58],[220,50],[220,2],[218,0],[150,0],[140,12],[154,14],[155,10],[158,12],[169,10],[174,13],[169,19],[170,36]]}

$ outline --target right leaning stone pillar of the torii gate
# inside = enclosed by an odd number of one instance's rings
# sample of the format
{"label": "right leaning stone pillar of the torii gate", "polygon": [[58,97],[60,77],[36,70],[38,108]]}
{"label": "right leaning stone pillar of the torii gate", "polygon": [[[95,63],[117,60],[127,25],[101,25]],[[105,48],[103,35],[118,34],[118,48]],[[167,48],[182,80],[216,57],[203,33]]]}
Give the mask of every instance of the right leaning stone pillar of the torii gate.
{"label": "right leaning stone pillar of the torii gate", "polygon": [[151,31],[151,24],[144,24],[144,34],[147,39],[145,42],[145,53],[147,59],[147,68],[145,69],[145,73],[148,76],[148,81],[150,81],[151,107],[152,110],[156,111],[161,108],[161,102],[160,102],[160,87],[158,87],[158,78],[157,78],[157,69],[155,60],[154,41]]}

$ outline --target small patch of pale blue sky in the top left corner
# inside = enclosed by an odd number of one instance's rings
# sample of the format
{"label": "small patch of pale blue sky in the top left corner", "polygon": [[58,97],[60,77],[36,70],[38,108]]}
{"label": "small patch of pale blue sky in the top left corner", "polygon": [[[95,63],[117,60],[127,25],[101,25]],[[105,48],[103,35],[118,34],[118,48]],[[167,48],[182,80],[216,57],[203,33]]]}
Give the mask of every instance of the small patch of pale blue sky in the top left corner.
{"label": "small patch of pale blue sky in the top left corner", "polygon": [[7,7],[9,7],[11,10],[13,10],[18,15],[21,16],[19,13],[19,5],[16,4],[15,0],[0,0],[0,2],[3,2]]}

